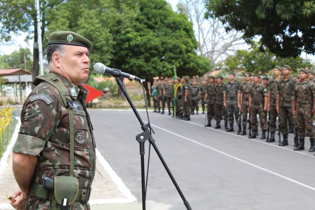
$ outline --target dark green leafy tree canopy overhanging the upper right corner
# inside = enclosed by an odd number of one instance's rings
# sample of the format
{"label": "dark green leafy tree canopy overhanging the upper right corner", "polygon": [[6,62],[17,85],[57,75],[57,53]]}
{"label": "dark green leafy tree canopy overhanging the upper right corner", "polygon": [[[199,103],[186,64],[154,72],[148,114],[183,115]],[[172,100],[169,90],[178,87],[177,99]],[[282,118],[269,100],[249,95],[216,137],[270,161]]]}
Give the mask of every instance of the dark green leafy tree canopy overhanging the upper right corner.
{"label": "dark green leafy tree canopy overhanging the upper right corner", "polygon": [[251,40],[281,57],[315,54],[313,0],[206,0],[207,17],[218,17],[226,29],[243,31]]}

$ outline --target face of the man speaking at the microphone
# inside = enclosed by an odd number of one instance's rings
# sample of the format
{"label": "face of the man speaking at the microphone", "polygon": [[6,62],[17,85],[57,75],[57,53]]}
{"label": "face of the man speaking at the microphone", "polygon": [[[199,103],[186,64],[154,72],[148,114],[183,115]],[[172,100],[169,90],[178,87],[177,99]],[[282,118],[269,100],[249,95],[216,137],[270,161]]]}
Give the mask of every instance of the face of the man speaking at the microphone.
{"label": "face of the man speaking at the microphone", "polygon": [[65,45],[65,55],[59,58],[59,70],[78,86],[89,77],[89,50],[81,46]]}

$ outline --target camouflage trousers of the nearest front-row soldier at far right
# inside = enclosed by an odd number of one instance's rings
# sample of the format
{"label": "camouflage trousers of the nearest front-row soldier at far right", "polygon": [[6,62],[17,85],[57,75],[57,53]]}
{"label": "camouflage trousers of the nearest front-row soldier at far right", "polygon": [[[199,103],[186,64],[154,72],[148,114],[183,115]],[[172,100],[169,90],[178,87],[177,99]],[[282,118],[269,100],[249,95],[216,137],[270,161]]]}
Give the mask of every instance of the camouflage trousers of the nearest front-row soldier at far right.
{"label": "camouflage trousers of the nearest front-row soldier at far right", "polygon": [[301,139],[305,138],[305,128],[310,139],[314,138],[314,127],[311,110],[311,105],[302,105],[303,107],[297,108],[295,112],[296,126],[298,134]]}

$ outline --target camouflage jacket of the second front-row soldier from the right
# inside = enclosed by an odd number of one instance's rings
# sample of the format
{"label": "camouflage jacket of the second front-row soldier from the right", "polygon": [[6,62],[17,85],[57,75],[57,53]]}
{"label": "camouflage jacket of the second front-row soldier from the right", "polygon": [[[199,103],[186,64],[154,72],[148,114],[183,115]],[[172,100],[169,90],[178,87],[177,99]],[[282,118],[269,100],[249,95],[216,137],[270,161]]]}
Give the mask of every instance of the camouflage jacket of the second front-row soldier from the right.
{"label": "camouflage jacket of the second front-row soldier from the right", "polygon": [[279,106],[292,106],[292,93],[296,81],[290,77],[288,80],[280,79],[277,94],[280,95]]}

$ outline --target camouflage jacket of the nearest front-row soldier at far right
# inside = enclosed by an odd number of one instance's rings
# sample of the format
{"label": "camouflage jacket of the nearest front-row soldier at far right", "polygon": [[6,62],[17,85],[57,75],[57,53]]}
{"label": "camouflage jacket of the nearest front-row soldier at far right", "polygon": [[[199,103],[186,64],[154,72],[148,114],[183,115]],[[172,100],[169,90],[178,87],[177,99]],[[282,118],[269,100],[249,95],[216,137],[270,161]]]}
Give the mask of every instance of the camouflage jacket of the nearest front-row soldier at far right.
{"label": "camouflage jacket of the nearest front-row soldier at far right", "polygon": [[[302,105],[312,105],[315,97],[315,84],[314,82],[297,82],[294,86],[292,100],[296,101],[296,108]],[[311,107],[312,109],[313,107]]]}

